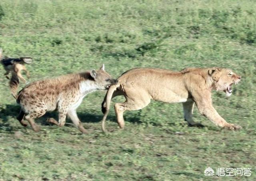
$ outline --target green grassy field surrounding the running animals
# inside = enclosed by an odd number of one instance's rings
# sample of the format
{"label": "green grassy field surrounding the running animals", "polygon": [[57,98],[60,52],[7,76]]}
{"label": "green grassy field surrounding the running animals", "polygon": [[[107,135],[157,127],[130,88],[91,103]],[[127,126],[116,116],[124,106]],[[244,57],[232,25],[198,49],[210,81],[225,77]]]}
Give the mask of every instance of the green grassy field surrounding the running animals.
{"label": "green grassy field surrounding the running animals", "polygon": [[[125,112],[119,130],[113,108],[100,129],[105,92],[85,97],[78,117],[41,132],[16,120],[19,106],[0,69],[0,180],[256,180],[256,4],[252,0],[1,0],[0,47],[30,56],[29,82],[98,69],[118,77],[133,67],[179,71],[226,67],[242,75],[231,97],[213,92],[213,104],[242,130],[216,127],[195,110],[204,128],[188,127],[182,104],[152,101]],[[22,83],[20,87],[24,87]],[[124,100],[117,97],[113,102]],[[204,176],[212,167],[251,168],[252,175]]]}

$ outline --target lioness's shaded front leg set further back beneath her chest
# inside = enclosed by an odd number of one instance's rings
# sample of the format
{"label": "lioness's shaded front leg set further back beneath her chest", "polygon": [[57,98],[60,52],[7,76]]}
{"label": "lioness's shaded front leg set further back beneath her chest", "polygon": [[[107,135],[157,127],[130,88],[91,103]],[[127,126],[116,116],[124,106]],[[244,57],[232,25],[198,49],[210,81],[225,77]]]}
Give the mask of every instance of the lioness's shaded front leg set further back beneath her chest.
{"label": "lioness's shaded front leg set further back beneath her chest", "polygon": [[192,114],[193,114],[193,110],[194,110],[194,101],[192,100],[188,100],[187,102],[183,102],[183,111],[184,111],[184,119],[186,122],[188,122],[189,126],[196,126],[196,127],[204,127],[204,125],[202,125],[199,122],[194,122],[194,120],[192,119]]}

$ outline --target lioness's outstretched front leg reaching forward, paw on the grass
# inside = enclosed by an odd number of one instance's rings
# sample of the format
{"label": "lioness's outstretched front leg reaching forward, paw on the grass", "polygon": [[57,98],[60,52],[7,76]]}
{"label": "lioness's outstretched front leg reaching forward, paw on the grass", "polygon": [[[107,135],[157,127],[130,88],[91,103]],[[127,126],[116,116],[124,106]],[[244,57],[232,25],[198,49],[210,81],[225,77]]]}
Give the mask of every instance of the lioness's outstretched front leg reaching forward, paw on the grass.
{"label": "lioness's outstretched front leg reaching forward, paw on the grass", "polygon": [[239,130],[242,128],[241,126],[226,122],[214,109],[211,102],[207,102],[207,103],[196,102],[196,105],[198,107],[200,114],[204,115],[206,118],[211,120],[214,124],[222,128],[228,128],[230,130]]}

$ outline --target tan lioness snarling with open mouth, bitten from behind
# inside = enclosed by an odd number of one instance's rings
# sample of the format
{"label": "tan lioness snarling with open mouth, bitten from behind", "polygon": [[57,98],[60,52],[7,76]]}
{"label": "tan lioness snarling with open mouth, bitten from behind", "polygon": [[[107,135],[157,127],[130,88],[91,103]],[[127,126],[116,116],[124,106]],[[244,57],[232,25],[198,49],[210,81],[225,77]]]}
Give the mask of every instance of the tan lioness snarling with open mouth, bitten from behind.
{"label": "tan lioness snarling with open mouth, bitten from behind", "polygon": [[189,125],[198,125],[192,120],[194,103],[200,114],[206,116],[214,124],[238,130],[241,127],[226,122],[212,106],[211,91],[224,91],[232,94],[232,84],[237,84],[241,76],[230,69],[222,68],[185,68],[174,72],[165,69],[135,68],[123,73],[118,84],[110,86],[102,102],[102,131],[109,112],[110,101],[115,96],[124,95],[125,102],[114,104],[117,122],[124,128],[123,113],[126,110],[139,110],[146,107],[150,100],[162,102],[182,102],[184,118]]}

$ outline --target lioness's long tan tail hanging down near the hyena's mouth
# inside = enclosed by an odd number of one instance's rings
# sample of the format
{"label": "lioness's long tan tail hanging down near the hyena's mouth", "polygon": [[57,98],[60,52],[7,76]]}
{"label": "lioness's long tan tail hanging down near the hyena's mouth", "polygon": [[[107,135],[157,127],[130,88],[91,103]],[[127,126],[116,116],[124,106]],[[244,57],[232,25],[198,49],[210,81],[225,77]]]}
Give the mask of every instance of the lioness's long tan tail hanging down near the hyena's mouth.
{"label": "lioness's long tan tail hanging down near the hyena's mouth", "polygon": [[120,86],[119,83],[117,85],[110,86],[110,88],[108,89],[108,92],[106,93],[106,96],[105,96],[105,98],[104,98],[104,100],[101,104],[101,110],[104,114],[104,116],[102,118],[102,122],[101,122],[101,129],[104,133],[107,133],[107,130],[105,128],[105,121],[106,121],[106,118],[108,116],[112,95],[119,86]]}

